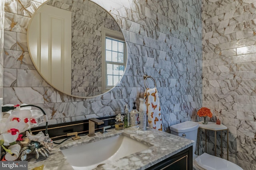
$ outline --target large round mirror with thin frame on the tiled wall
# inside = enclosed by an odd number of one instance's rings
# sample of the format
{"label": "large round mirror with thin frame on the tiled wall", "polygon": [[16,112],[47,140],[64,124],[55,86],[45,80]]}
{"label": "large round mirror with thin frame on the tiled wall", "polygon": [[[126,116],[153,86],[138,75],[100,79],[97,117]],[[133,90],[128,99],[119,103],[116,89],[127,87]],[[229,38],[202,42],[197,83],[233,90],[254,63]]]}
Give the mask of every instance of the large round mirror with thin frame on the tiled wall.
{"label": "large round mirror with thin frame on the tiled wall", "polygon": [[45,2],[30,20],[27,40],[40,75],[65,94],[98,96],[124,74],[127,51],[121,29],[90,0]]}

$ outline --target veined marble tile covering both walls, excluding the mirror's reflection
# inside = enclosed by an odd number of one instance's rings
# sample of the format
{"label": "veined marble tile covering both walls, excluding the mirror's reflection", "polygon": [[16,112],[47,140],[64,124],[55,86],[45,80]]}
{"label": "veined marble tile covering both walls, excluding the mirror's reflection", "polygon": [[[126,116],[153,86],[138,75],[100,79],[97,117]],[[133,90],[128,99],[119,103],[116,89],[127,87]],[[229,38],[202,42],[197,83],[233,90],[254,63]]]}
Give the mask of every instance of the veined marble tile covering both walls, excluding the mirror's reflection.
{"label": "veined marble tile covering both walls, excluding the mirror's reflection", "polygon": [[[148,74],[156,80],[164,131],[178,122],[196,121],[196,111],[209,107],[213,113],[218,111],[229,128],[230,160],[244,170],[256,168],[254,0],[92,0],[118,22],[128,50],[120,83],[94,98],[58,92],[33,66],[26,31],[31,16],[45,1],[5,0],[5,5],[1,1],[4,104],[37,104],[51,124],[116,115],[124,113],[125,104],[138,106],[145,90],[143,75]],[[214,141],[211,135],[209,139]],[[212,142],[208,148],[212,153]]]}

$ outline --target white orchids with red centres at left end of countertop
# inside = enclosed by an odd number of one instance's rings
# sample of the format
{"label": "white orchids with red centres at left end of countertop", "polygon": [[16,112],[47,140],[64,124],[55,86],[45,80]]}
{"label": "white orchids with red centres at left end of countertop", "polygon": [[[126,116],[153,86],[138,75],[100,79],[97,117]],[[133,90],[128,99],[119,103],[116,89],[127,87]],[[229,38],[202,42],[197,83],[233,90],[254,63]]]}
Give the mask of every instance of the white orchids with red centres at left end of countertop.
{"label": "white orchids with red centres at left end of countertop", "polygon": [[[0,119],[0,146],[6,152],[6,160],[16,160],[19,156],[20,145],[16,141],[22,141],[23,132],[38,126],[38,117],[43,116],[39,110],[31,110],[30,106],[5,105],[15,108],[13,111],[6,111],[4,117]],[[4,106],[3,106],[4,107]]]}

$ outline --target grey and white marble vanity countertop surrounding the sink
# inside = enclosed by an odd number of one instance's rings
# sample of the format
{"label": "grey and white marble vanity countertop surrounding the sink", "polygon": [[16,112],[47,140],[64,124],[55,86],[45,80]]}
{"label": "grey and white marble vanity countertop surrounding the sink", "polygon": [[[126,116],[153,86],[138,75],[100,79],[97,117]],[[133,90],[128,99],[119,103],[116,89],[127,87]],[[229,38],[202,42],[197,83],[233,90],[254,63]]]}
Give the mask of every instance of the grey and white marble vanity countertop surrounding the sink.
{"label": "grey and white marble vanity countertop surrounding the sink", "polygon": [[60,148],[70,148],[121,134],[153,146],[141,152],[125,156],[124,158],[110,161],[108,164],[104,164],[94,170],[143,170],[193,144],[191,140],[154,129],[140,131],[138,128],[129,127],[120,131],[108,129],[108,133],[106,134],[101,134],[100,132],[95,134],[96,136],[94,137],[88,137],[86,135],[81,136],[81,139],[76,141],[72,139],[65,141],[61,145],[54,147],[54,150],[50,152],[50,156],[47,159],[42,160],[44,157],[41,155],[39,160],[36,161],[35,156],[30,156],[28,159],[28,170],[32,170],[32,168],[41,166],[42,164],[44,164],[44,170],[72,170],[72,166],[65,159]]}

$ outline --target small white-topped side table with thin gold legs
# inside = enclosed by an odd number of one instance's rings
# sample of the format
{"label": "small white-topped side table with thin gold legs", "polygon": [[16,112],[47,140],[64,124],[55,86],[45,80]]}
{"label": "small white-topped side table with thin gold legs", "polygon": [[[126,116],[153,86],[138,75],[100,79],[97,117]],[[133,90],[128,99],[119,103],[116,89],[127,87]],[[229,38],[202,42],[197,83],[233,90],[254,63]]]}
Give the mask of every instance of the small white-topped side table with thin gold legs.
{"label": "small white-topped side table with thin gold legs", "polygon": [[[206,136],[206,130],[211,130],[211,131],[214,131],[214,135],[215,135],[215,156],[216,156],[216,132],[217,131],[220,131],[220,139],[221,139],[221,153],[220,153],[220,156],[222,158],[222,131],[227,131],[227,160],[228,160],[228,128],[222,124],[220,125],[217,125],[216,123],[214,122],[208,122],[207,125],[204,125],[202,124],[202,122],[198,122],[199,124],[199,128],[201,129],[205,129],[205,151],[207,150],[207,142],[206,142],[206,139],[207,139],[207,136]],[[199,129],[198,129],[198,133],[199,133]],[[197,135],[198,139],[199,139],[199,134]],[[198,155],[199,155],[199,141],[197,143],[197,148],[198,148]]]}

